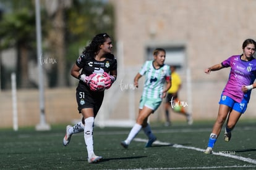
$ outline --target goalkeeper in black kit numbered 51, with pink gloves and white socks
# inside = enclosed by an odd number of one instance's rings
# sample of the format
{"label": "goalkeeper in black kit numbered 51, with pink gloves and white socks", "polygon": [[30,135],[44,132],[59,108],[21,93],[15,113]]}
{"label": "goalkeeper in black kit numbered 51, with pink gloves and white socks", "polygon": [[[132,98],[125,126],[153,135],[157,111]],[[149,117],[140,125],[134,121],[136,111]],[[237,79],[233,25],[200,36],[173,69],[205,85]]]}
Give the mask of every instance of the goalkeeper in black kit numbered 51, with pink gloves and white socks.
{"label": "goalkeeper in black kit numbered 51, with pink gloves and white socks", "polygon": [[[97,34],[92,42],[85,47],[70,73],[80,79],[76,98],[79,113],[82,113],[82,121],[74,126],[66,127],[63,145],[69,144],[72,134],[84,132],[88,163],[96,163],[102,159],[102,156],[96,156],[93,151],[93,124],[103,102],[104,89],[98,91],[97,84],[92,81],[92,78],[97,73],[101,73],[105,77],[105,89],[109,89],[114,83],[117,76],[117,61],[111,54],[112,48],[113,45],[108,34]],[[80,70],[82,70],[81,73]]]}

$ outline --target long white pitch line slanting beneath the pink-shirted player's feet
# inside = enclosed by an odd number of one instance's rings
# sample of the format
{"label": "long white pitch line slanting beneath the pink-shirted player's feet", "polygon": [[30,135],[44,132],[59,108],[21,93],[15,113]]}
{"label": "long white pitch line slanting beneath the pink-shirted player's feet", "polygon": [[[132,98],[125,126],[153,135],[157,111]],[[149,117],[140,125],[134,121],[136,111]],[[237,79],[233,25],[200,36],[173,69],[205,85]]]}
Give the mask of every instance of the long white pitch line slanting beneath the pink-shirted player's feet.
{"label": "long white pitch line slanting beneath the pink-shirted player's feet", "polygon": [[[141,139],[141,138],[135,138],[134,141],[137,141],[137,142],[147,142],[148,140],[147,139]],[[205,150],[202,149],[202,148],[196,148],[196,147],[186,147],[184,145],[179,145],[179,144],[170,144],[168,142],[160,142],[159,140],[156,140],[153,145],[170,145],[174,148],[187,148],[187,149],[190,149],[190,150],[197,150],[199,152],[204,152]],[[236,160],[241,160],[241,161],[245,161],[247,163],[253,163],[253,164],[256,164],[256,160],[253,160],[251,158],[245,158],[245,157],[242,157],[242,156],[236,156],[236,155],[231,155],[231,154],[224,154],[224,153],[218,153],[218,152],[213,152],[212,153],[213,155],[220,155],[220,156],[226,156],[226,157],[229,157],[229,158],[234,158]]]}

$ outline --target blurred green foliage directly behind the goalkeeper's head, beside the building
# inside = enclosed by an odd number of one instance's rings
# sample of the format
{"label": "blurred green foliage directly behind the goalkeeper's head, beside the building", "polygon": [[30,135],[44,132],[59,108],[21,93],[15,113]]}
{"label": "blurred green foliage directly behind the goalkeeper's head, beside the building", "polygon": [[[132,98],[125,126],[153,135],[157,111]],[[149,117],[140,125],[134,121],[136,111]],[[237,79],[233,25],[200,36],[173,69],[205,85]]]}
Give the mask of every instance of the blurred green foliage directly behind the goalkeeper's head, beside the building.
{"label": "blurred green foliage directly behind the goalkeeper's head, beside the building", "polygon": [[98,33],[108,33],[114,40],[114,10],[105,1],[74,0],[66,11],[67,61],[74,62],[79,52]]}

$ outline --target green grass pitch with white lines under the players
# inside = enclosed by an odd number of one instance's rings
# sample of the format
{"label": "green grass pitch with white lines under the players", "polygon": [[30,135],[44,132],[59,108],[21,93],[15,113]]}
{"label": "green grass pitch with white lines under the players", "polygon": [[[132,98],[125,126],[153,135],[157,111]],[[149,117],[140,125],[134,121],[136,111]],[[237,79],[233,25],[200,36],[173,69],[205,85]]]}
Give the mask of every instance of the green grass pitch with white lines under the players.
{"label": "green grass pitch with white lines under the players", "polygon": [[241,120],[230,142],[224,142],[222,131],[214,153],[205,155],[212,125],[212,121],[192,126],[151,124],[158,142],[145,148],[141,131],[128,149],[120,142],[130,128],[95,127],[95,153],[103,156],[96,164],[87,162],[83,133],[72,136],[69,146],[62,145],[65,126],[45,132],[1,129],[0,169],[256,169],[255,121]]}

